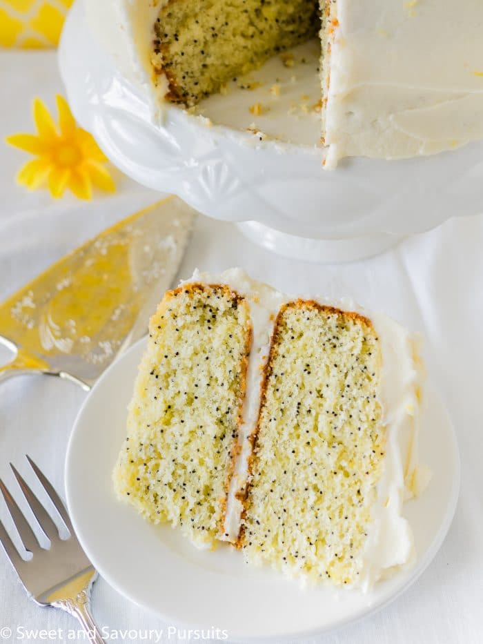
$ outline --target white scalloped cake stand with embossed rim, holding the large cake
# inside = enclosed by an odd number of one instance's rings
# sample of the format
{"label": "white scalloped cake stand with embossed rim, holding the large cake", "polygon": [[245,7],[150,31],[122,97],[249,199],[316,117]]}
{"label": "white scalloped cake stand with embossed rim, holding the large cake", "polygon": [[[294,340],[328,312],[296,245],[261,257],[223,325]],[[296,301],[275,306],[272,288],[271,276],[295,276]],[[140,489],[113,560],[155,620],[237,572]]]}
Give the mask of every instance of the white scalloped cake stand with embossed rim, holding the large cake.
{"label": "white scalloped cake stand with embossed rim, holding the large cake", "polygon": [[[282,255],[357,260],[449,217],[480,213],[483,142],[405,161],[350,159],[324,170],[311,47],[295,50],[293,68],[270,61],[250,78],[255,89],[208,99],[210,121],[170,106],[157,122],[148,90],[130,82],[92,35],[81,0],[66,21],[59,64],[75,117],[113,164],[209,217],[237,222]],[[276,78],[278,98],[269,91]],[[257,102],[270,106],[266,115],[250,113]],[[254,121],[266,139],[247,131]]]}

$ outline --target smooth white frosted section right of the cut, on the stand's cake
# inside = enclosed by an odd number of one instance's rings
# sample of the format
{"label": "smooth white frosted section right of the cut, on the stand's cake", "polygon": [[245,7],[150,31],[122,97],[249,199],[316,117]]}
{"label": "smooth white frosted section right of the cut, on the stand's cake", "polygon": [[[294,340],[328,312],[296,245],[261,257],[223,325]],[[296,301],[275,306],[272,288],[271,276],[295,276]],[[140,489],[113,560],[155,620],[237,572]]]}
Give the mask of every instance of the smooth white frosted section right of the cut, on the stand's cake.
{"label": "smooth white frosted section right of the cut, on the stand's cake", "polygon": [[483,138],[481,0],[337,0],[326,166]]}

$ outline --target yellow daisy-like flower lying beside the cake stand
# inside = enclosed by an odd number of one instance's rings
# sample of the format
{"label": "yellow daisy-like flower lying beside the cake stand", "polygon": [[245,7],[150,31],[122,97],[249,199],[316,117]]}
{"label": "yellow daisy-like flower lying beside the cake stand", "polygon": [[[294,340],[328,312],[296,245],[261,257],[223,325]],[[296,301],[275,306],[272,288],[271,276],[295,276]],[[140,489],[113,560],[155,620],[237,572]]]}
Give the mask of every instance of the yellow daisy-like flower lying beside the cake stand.
{"label": "yellow daisy-like flower lying beside the cake stand", "polygon": [[66,188],[79,199],[91,199],[92,186],[108,192],[115,191],[108,170],[108,160],[92,135],[79,128],[66,99],[57,96],[59,127],[40,99],[34,99],[34,122],[37,135],[14,134],[6,138],[12,146],[36,155],[21,168],[17,182],[29,190],[46,183],[52,197],[63,195]]}

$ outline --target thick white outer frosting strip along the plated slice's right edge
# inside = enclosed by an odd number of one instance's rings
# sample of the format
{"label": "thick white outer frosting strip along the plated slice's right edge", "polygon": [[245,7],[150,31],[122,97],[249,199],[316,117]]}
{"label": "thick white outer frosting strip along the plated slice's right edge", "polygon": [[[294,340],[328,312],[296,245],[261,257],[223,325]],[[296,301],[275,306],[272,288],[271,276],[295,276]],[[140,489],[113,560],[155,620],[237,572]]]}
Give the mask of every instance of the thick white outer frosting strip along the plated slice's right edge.
{"label": "thick white outer frosting strip along the plated slice's right edge", "polygon": [[413,534],[402,516],[404,500],[417,496],[417,433],[424,369],[417,340],[381,313],[362,311],[371,319],[381,343],[380,401],[386,425],[386,458],[377,485],[360,583],[369,588],[396,567],[415,558]]}

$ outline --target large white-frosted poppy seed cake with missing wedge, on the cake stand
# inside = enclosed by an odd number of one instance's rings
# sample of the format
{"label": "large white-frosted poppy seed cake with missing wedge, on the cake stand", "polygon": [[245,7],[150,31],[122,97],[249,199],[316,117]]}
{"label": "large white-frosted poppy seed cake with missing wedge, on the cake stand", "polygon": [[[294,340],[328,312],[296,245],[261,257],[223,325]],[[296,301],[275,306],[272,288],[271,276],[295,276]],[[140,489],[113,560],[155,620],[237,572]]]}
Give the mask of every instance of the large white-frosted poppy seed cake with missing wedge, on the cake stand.
{"label": "large white-frosted poppy seed cake with missing wedge, on the cake stand", "polygon": [[123,74],[147,90],[153,114],[170,102],[193,106],[314,39],[321,119],[313,126],[326,168],[483,139],[481,0],[460,0],[456,16],[453,0],[86,0],[86,8]]}

